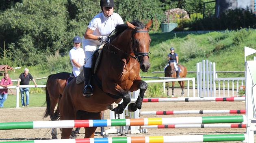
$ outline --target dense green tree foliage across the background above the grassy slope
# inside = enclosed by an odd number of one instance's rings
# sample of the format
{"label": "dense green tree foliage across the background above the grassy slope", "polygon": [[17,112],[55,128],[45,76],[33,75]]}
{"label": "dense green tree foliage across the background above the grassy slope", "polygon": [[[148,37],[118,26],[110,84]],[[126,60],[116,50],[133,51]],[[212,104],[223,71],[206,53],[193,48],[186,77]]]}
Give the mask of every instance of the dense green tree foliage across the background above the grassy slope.
{"label": "dense green tree foliage across the background above the grassy slope", "polygon": [[[211,0],[115,0],[114,11],[124,21],[137,19],[147,22],[144,20],[153,17],[161,22],[167,9],[182,8],[194,15],[193,13],[202,13],[203,2],[208,1]],[[5,41],[6,50],[12,55],[12,64],[22,66],[47,63],[47,56],[56,52],[60,55],[67,54],[73,46],[73,37],[84,35],[91,19],[101,12],[99,4],[100,0],[0,0],[0,47],[3,49]],[[213,13],[214,4],[206,5],[207,15]],[[250,13],[243,15],[248,17],[248,21],[247,18],[240,19],[234,23],[235,26],[225,28],[232,29],[241,24],[246,27],[247,22],[254,21],[249,20],[253,18]],[[224,25],[228,25],[230,21],[235,22],[235,15],[225,16],[228,20],[221,20]],[[209,19],[215,22],[210,22]],[[208,27],[215,27],[218,21],[219,19],[206,17],[200,23],[206,23],[203,29],[211,29]],[[153,25],[157,27],[159,23]],[[195,27],[195,23],[187,25],[191,29]],[[224,28],[221,25],[221,29],[222,27]]]}

